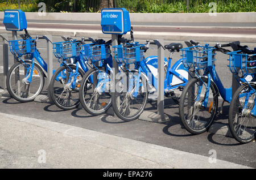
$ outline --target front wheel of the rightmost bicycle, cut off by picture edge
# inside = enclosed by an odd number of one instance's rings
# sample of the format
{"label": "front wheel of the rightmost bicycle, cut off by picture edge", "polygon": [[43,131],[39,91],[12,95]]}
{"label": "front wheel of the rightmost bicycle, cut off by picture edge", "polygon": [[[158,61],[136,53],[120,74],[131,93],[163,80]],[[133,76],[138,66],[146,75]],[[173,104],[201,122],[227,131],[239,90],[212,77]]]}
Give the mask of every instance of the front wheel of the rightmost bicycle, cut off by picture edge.
{"label": "front wheel of the rightmost bicycle, cut off by picture edge", "polygon": [[255,84],[242,85],[232,97],[229,107],[229,127],[234,138],[240,143],[249,143],[256,135]]}

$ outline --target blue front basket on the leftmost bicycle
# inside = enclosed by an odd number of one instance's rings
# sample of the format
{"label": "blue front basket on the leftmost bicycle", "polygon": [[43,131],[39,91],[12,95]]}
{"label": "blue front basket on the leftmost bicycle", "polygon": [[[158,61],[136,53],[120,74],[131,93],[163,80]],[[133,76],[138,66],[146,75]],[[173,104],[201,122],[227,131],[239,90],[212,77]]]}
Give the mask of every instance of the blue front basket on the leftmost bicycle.
{"label": "blue front basket on the leftmost bicycle", "polygon": [[10,52],[14,55],[22,56],[24,54],[31,54],[35,51],[35,39],[27,40],[13,40],[9,41]]}

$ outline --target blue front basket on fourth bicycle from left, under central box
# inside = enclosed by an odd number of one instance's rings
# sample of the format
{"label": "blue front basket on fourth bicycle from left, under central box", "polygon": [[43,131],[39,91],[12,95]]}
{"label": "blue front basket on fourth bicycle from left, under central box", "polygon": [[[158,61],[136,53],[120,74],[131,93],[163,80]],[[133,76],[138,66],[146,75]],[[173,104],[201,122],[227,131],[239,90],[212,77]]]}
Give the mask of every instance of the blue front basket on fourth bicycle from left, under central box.
{"label": "blue front basket on fourth bicycle from left, under central box", "polygon": [[114,58],[118,63],[125,63],[126,65],[142,61],[143,52],[141,48],[143,44],[127,44],[126,46],[117,45],[114,48]]}

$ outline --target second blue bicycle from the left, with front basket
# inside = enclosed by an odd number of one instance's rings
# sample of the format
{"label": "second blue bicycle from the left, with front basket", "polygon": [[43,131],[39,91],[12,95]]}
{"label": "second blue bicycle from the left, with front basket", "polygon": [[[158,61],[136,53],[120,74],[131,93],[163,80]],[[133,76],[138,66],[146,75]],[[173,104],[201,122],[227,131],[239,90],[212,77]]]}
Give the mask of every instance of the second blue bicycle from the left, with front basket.
{"label": "second blue bicycle from the left, with front basket", "polygon": [[53,43],[53,53],[58,58],[60,67],[52,76],[49,95],[55,105],[61,109],[73,109],[80,104],[80,82],[85,72],[89,70],[85,58],[88,52],[82,48],[86,45],[86,41],[92,41],[93,45],[97,45],[103,40],[67,38],[67,41]]}

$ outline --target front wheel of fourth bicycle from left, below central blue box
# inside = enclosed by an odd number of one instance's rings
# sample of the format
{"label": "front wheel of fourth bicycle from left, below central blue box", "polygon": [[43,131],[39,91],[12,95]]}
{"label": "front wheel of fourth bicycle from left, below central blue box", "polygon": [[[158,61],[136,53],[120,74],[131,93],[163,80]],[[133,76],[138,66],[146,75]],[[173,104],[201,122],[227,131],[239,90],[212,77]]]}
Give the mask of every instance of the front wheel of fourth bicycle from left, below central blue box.
{"label": "front wheel of fourth bicycle from left, below central blue box", "polygon": [[[136,76],[138,77],[137,71],[131,71],[133,78],[131,79],[132,91],[129,92],[129,83],[127,83],[127,77],[129,72],[124,72],[126,78],[122,78],[115,87],[119,87],[119,89],[115,89],[115,92],[112,93],[112,104],[113,110],[115,114],[123,119],[124,121],[132,121],[137,119],[139,115],[143,112],[148,92],[147,92],[147,84],[146,79],[141,78],[139,79],[139,87],[138,87],[138,95],[134,97],[134,91],[136,89]],[[127,85],[125,84],[127,83]]]}

